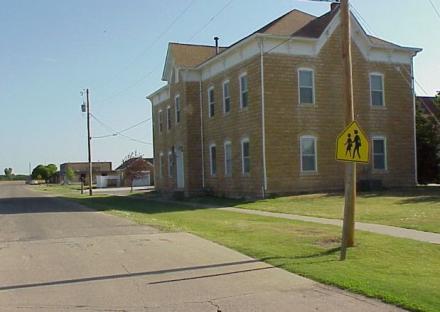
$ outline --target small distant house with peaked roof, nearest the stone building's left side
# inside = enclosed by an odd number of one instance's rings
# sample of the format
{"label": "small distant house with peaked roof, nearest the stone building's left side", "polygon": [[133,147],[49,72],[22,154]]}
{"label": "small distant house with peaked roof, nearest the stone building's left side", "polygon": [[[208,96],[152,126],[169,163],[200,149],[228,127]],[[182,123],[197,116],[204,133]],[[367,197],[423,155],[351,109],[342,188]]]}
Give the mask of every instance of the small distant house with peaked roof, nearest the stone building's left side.
{"label": "small distant house with peaked roof, nearest the stone building's left side", "polygon": [[153,158],[133,157],[124,161],[115,170],[124,186],[154,185]]}

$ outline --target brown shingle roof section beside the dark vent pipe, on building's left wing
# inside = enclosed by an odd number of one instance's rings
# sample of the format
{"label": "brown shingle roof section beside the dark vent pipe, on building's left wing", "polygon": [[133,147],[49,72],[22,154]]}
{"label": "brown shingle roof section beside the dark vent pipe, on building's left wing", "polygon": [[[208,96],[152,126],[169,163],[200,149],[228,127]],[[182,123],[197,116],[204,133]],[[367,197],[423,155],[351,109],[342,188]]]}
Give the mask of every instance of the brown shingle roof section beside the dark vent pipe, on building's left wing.
{"label": "brown shingle roof section beside the dark vent pipe, on building's left wing", "polygon": [[[220,48],[220,51],[224,50]],[[177,65],[195,67],[215,55],[215,46],[170,43],[170,50]]]}

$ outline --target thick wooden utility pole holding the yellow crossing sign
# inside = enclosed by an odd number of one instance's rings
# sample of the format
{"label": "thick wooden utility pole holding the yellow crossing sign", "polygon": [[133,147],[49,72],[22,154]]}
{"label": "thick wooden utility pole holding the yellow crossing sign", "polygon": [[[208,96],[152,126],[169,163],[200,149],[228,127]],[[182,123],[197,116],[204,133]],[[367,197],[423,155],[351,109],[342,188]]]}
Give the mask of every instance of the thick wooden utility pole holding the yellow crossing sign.
{"label": "thick wooden utility pole holding the yellow crossing sign", "polygon": [[[353,98],[353,67],[351,53],[351,19],[349,0],[341,0],[340,6],[342,23],[342,59],[344,62],[345,76],[345,123],[349,125],[354,121]],[[345,260],[347,248],[354,246],[354,214],[356,207],[356,163],[345,164],[345,206],[344,223],[342,228],[342,245],[340,260]]]}

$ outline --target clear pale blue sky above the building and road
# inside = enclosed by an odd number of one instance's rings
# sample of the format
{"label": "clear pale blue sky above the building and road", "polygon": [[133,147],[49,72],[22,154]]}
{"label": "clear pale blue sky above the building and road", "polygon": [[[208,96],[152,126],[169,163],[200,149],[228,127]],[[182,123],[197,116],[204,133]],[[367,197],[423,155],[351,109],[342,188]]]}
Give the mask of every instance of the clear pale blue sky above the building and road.
{"label": "clear pale blue sky above the building and road", "polygon": [[[440,10],[440,0],[431,0]],[[87,159],[81,90],[92,112],[121,130],[150,117],[147,94],[163,85],[169,41],[229,45],[291,9],[320,15],[305,0],[0,0],[0,169],[27,173],[39,163]],[[430,0],[352,0],[367,30],[423,48],[415,59],[418,94],[440,90],[440,16]],[[214,18],[213,18],[214,17]],[[174,22],[174,23],[173,23]],[[367,25],[368,24],[368,25]],[[94,136],[111,131],[93,122]],[[125,133],[151,143],[151,122]],[[93,141],[94,161],[116,167],[152,145],[126,137]]]}

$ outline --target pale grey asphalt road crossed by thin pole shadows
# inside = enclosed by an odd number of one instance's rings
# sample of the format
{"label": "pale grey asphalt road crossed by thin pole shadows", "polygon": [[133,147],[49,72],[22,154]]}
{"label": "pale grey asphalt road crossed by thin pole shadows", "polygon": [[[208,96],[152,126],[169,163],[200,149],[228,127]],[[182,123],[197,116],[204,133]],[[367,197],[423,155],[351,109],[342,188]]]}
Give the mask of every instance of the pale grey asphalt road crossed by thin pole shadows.
{"label": "pale grey asphalt road crossed by thin pole shadows", "polygon": [[0,184],[0,311],[402,311],[187,233]]}

